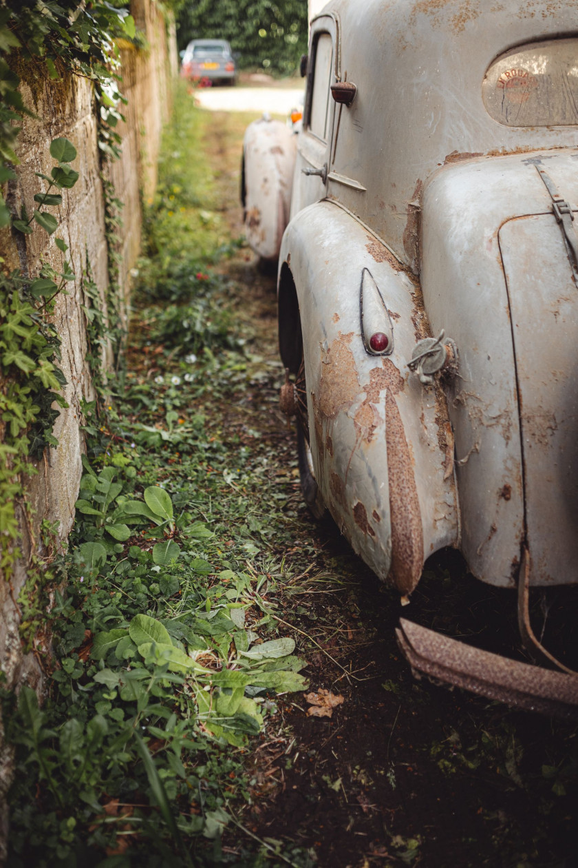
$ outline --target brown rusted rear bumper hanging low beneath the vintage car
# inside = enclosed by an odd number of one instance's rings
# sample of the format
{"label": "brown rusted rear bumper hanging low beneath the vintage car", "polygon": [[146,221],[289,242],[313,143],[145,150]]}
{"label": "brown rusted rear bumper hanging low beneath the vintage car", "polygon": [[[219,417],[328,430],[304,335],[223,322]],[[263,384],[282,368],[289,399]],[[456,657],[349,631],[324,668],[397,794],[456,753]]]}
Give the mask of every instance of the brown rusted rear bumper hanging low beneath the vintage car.
{"label": "brown rusted rear bumper hanging low beneath the vintage car", "polygon": [[472,648],[404,618],[399,648],[413,673],[463,687],[507,705],[578,720],[578,677]]}

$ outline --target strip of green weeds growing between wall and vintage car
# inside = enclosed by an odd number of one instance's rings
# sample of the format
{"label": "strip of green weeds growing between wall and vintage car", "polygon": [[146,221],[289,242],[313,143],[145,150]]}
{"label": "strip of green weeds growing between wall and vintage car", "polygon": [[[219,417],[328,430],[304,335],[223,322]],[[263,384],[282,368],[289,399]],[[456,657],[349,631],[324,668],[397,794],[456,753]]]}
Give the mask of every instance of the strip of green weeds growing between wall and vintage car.
{"label": "strip of green weeds growing between wall and vintage car", "polygon": [[[192,129],[186,112],[180,123]],[[83,404],[75,528],[36,589],[42,606],[52,600],[48,694],[42,707],[28,687],[4,697],[16,746],[14,866],[226,861],[224,826],[243,828],[229,806],[250,798],[247,741],[274,725],[277,694],[306,686],[305,661],[276,615],[287,568],[273,554],[271,518],[290,522],[287,497],[262,450],[204,412],[205,400],[250,383],[254,361],[231,334],[220,279],[199,277],[197,236],[184,219],[170,222],[171,174],[198,183],[173,136],[151,206],[156,253],[140,278],[139,339],[126,377],[109,376],[106,411]],[[183,195],[191,208],[194,194]],[[214,261],[221,236],[208,228],[205,240]],[[182,307],[166,309],[151,275],[170,272],[164,257],[177,249],[182,273],[188,261],[196,277],[175,293]],[[185,309],[196,311],[192,325]],[[295,850],[289,864],[310,860]]]}

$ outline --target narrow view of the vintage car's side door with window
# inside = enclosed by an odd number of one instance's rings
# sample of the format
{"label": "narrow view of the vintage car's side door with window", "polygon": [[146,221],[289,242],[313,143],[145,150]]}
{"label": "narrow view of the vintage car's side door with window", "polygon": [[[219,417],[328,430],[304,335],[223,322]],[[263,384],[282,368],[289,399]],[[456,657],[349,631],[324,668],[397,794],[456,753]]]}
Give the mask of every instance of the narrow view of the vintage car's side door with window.
{"label": "narrow view of the vintage car's side door with window", "polygon": [[341,77],[339,65],[337,17],[318,16],[311,23],[303,128],[297,145],[291,216],[326,194],[335,106],[330,87]]}

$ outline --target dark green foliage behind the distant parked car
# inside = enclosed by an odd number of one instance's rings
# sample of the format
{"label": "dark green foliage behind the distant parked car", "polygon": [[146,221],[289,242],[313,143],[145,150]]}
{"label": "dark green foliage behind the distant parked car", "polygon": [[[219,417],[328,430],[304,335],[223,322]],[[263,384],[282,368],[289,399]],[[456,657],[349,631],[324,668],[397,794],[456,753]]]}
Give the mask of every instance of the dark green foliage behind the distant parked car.
{"label": "dark green foliage behind the distant parked car", "polygon": [[307,0],[188,0],[179,12],[179,49],[192,39],[228,39],[242,69],[288,75],[307,51]]}

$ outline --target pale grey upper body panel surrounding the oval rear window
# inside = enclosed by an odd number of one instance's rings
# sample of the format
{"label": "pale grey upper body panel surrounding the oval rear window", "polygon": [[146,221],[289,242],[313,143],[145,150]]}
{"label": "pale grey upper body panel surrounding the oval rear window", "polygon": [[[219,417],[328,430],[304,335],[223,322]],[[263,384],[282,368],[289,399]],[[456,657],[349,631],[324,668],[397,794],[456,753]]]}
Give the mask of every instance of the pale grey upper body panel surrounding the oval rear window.
{"label": "pale grey upper body panel surrounding the oval rear window", "polygon": [[[575,146],[575,127],[493,121],[482,82],[512,45],[575,36],[577,4],[544,0],[530,9],[503,0],[490,10],[487,0],[467,8],[463,0],[332,0],[328,12],[339,20],[341,76],[347,72],[357,85],[353,104],[335,108],[328,172],[364,189],[329,175],[327,194],[373,227],[414,273],[419,194],[439,166],[469,155]],[[294,196],[294,213],[299,205]]]}

